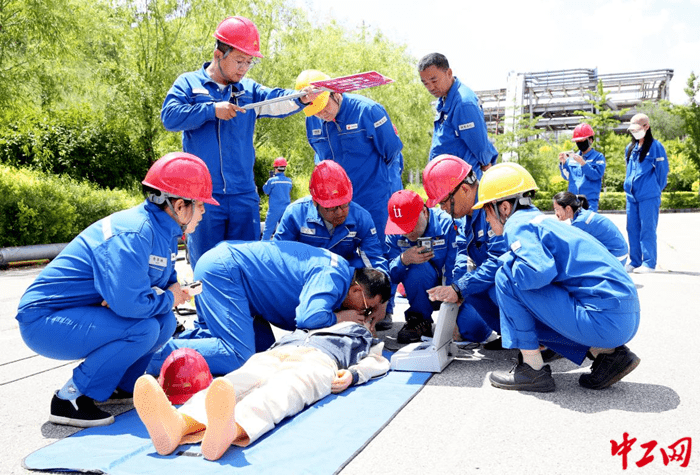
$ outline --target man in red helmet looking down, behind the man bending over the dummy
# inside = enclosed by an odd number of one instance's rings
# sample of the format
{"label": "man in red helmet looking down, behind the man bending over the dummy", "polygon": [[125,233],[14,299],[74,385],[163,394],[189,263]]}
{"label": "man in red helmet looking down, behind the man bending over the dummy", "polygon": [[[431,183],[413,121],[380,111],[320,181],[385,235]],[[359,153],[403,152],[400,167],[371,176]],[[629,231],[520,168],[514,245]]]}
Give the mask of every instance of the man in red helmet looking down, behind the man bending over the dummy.
{"label": "man in red helmet looking down, behind the man bending over the dummy", "polygon": [[275,233],[276,241],[299,241],[335,252],[352,267],[388,273],[372,217],[353,203],[353,187],[339,164],[324,160],[309,181],[311,196],[287,207]]}

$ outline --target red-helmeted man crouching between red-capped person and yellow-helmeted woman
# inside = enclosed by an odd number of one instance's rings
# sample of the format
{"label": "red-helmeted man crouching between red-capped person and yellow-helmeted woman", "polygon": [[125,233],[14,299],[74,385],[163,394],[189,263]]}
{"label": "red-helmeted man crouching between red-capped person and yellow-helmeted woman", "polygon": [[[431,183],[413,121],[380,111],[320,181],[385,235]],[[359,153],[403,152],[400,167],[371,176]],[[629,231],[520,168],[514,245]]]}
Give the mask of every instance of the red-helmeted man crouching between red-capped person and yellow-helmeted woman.
{"label": "red-helmeted man crouching between red-capped person and yellow-helmeted woman", "polygon": [[[463,301],[457,316],[462,338],[484,343],[487,349],[500,349],[496,335],[500,332],[500,323],[494,278],[500,266],[498,256],[505,252],[505,246],[503,238],[491,232],[485,214],[473,209],[479,180],[464,160],[442,155],[423,170],[423,186],[428,206],[439,204],[459,225],[452,284],[429,290],[430,298],[442,302]],[[469,261],[476,266],[474,270],[469,270]]]}

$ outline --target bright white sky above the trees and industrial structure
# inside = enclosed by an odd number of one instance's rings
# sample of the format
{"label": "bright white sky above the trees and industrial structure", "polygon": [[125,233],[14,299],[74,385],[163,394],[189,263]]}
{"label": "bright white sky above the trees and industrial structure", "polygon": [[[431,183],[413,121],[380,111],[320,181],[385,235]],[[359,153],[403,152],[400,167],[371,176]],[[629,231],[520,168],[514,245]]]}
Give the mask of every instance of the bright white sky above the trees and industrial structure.
{"label": "bright white sky above the trees and industrial structure", "polygon": [[416,59],[442,53],[475,91],[505,88],[511,72],[673,69],[670,100],[682,104],[700,76],[700,0],[295,1],[320,21],[380,30]]}

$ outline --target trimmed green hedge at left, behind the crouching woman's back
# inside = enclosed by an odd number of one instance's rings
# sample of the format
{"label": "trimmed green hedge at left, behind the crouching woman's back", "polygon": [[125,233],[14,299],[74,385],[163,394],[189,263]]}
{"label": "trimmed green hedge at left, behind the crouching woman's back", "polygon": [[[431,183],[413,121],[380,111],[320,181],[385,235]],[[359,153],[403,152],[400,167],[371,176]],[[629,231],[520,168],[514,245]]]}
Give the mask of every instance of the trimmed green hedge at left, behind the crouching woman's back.
{"label": "trimmed green hedge at left, behind the crouching woman's back", "polygon": [[0,247],[68,242],[93,222],[135,206],[135,191],[0,165]]}

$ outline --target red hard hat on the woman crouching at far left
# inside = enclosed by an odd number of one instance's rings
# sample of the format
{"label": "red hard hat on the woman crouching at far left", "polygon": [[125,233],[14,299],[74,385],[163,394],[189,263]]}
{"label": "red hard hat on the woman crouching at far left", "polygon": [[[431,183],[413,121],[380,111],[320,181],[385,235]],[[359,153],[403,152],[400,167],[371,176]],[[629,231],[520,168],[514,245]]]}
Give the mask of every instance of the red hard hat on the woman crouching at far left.
{"label": "red hard hat on the woman crouching at far left", "polygon": [[219,204],[211,196],[209,169],[201,158],[191,153],[171,152],[163,155],[151,165],[141,183],[168,195]]}

